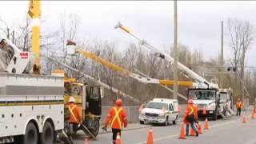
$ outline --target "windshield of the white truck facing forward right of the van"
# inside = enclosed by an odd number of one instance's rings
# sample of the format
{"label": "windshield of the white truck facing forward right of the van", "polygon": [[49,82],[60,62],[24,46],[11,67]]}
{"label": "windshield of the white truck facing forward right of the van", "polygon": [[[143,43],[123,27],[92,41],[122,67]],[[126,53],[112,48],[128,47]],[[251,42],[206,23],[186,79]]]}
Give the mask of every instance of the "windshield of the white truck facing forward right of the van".
{"label": "windshield of the white truck facing forward right of the van", "polygon": [[190,97],[193,100],[214,100],[215,93],[210,90],[193,90],[190,91]]}

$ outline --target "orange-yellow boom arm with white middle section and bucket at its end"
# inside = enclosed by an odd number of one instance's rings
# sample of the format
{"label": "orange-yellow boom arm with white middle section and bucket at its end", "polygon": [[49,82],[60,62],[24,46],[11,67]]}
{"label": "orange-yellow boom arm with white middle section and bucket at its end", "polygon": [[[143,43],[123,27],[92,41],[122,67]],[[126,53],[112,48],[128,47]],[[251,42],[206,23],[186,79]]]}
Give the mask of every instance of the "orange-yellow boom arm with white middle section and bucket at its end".
{"label": "orange-yellow boom arm with white middle section and bucket at its end", "polygon": [[[98,57],[97,55],[95,54],[92,54],[90,53],[89,51],[86,51],[86,50],[82,50],[82,48],[80,47],[75,47],[75,43],[74,42],[70,42],[68,41],[67,42],[67,46],[70,46],[69,49],[74,49],[74,50],[71,50],[71,51],[74,51],[78,54],[82,54],[84,57],[86,58],[90,58],[91,60],[94,60],[94,62],[98,62],[98,63],[101,63],[103,66],[106,66],[108,67],[110,70],[114,70],[118,73],[121,73],[125,76],[128,76],[130,78],[134,78],[136,80],[138,80],[139,82],[143,82],[143,83],[155,83],[155,84],[161,84],[161,85],[168,85],[168,86],[172,86],[174,85],[174,81],[171,81],[171,80],[166,80],[166,79],[156,79],[156,78],[145,78],[145,77],[142,77],[141,75],[139,74],[134,74],[128,70],[125,70],[124,68],[120,67],[120,66],[116,66],[114,65],[113,63],[103,59],[103,58],[100,58]],[[72,47],[73,46],[73,47]],[[187,82],[187,81],[178,81],[178,85],[179,86],[187,86],[187,87],[190,87],[190,86],[195,86],[196,84],[194,82]]]}

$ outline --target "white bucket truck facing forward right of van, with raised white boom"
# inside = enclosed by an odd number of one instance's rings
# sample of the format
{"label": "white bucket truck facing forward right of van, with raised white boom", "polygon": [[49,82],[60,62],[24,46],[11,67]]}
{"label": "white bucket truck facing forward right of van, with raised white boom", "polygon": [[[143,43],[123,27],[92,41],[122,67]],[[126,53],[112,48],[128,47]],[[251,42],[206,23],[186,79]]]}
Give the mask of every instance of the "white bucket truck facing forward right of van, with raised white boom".
{"label": "white bucket truck facing forward right of van, with raised white boom", "polygon": [[[126,26],[123,26],[120,22],[115,28],[119,28],[120,30],[126,32],[126,34],[130,34],[130,36],[136,38],[142,46],[145,46],[148,50],[154,53],[155,56],[159,58],[165,59],[167,62],[170,62],[172,65],[174,63],[174,58],[172,58],[169,54],[162,53],[159,49],[150,45],[145,39],[140,38],[137,34],[134,34],[131,30],[129,30]],[[222,93],[219,92],[218,82],[216,81],[207,81],[205,78],[195,73],[190,68],[184,66],[182,63],[178,62],[178,70],[181,71],[181,74],[186,76],[186,78],[193,78],[193,85],[188,89],[187,98],[192,98],[193,102],[199,106],[199,113],[202,112],[203,107],[207,108],[207,114],[212,114],[214,120],[217,119],[218,115],[223,115],[225,111],[226,103],[223,104],[220,100],[220,96]],[[221,95],[220,95],[221,94]],[[226,109],[230,111],[230,114],[233,113],[231,107],[228,106]]]}

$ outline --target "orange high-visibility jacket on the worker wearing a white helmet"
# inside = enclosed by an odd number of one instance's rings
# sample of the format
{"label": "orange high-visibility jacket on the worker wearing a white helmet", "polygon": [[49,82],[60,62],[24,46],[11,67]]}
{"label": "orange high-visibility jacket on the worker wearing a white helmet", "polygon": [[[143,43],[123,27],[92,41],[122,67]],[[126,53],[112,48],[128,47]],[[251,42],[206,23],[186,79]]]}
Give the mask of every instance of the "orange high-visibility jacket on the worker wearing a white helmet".
{"label": "orange high-visibility jacket on the worker wearing a white helmet", "polygon": [[78,106],[74,105],[74,103],[68,104],[68,110],[70,111],[70,123],[79,123],[82,122],[82,116],[78,109]]}

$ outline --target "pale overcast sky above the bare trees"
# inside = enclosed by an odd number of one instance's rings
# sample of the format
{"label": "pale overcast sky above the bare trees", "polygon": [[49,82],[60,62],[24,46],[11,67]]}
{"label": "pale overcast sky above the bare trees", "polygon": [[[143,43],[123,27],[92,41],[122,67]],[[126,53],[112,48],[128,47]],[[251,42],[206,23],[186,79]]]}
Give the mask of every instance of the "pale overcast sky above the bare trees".
{"label": "pale overcast sky above the bare trees", "polygon": [[[0,18],[17,26],[28,10],[28,1],[0,1]],[[173,43],[172,1],[42,1],[42,30],[57,30],[63,14],[77,14],[81,38],[100,38],[118,42],[137,42],[120,30],[117,22],[130,27],[136,34],[160,49]],[[249,1],[178,1],[178,42],[191,49],[202,50],[204,58],[217,58],[221,44],[221,21],[228,18],[249,21],[256,28],[256,2]],[[2,26],[2,25],[0,25]],[[225,59],[231,56],[227,30]],[[256,34],[256,33],[255,33]],[[247,54],[247,65],[256,66],[256,35]],[[119,48],[122,50],[122,48]]]}

